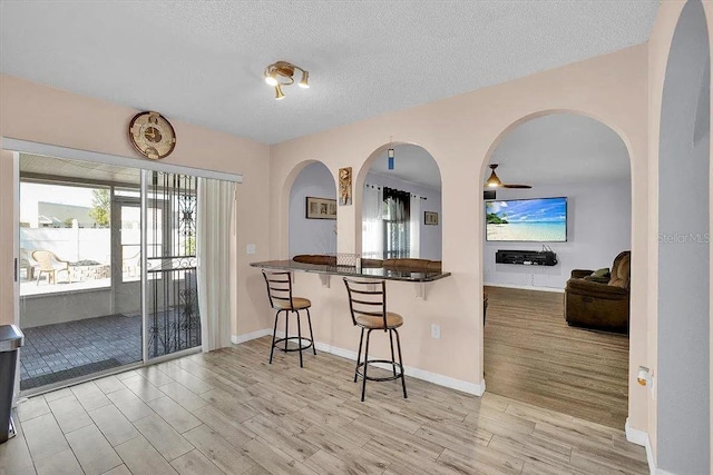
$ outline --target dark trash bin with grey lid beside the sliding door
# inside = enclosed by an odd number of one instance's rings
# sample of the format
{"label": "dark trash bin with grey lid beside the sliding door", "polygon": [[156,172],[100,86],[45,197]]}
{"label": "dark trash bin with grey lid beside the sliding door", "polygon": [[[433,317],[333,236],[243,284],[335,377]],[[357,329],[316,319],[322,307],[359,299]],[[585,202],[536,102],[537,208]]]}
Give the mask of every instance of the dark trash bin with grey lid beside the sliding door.
{"label": "dark trash bin with grey lid beside the sliding door", "polygon": [[0,444],[16,434],[12,423],[12,396],[18,350],[25,335],[14,325],[0,325]]}

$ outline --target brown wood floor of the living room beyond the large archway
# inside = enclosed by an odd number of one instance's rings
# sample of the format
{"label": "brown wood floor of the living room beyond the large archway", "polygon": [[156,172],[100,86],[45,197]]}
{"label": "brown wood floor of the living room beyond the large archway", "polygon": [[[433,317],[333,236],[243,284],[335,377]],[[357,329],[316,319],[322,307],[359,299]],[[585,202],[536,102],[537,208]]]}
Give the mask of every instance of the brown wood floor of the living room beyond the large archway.
{"label": "brown wood floor of the living room beyond the large archway", "polygon": [[624,429],[628,337],[567,326],[564,294],[486,290],[487,390]]}

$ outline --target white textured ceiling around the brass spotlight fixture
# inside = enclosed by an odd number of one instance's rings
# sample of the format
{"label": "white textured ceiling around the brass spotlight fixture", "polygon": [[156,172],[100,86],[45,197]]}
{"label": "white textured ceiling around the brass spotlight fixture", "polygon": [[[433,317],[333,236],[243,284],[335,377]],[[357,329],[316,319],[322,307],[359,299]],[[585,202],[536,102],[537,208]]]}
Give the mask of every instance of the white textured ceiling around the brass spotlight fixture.
{"label": "white textured ceiling around the brass spotlight fixture", "polygon": [[[642,1],[0,1],[2,72],[265,144],[648,39]],[[287,60],[311,89],[273,99]]]}

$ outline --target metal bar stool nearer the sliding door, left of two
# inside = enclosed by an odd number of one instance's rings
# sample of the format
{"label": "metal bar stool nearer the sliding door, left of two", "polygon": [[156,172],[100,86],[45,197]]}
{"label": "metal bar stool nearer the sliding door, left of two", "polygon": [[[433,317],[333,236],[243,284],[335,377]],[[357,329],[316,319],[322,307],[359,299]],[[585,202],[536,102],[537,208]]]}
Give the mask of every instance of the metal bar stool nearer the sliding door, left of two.
{"label": "metal bar stool nearer the sliding door, left of two", "polygon": [[[292,296],[292,275],[290,273],[267,273],[263,270],[263,277],[267,285],[267,297],[270,297],[270,306],[277,310],[275,313],[275,327],[272,331],[272,347],[270,348],[270,364],[272,365],[272,355],[275,348],[282,352],[300,352],[300,367],[304,367],[302,363],[302,350],[312,347],[312,352],[316,355],[316,348],[314,347],[314,335],[312,334],[312,319],[310,318],[310,307],[312,303],[306,298]],[[307,311],[307,324],[310,325],[310,338],[302,338],[302,325],[300,323],[300,310]],[[275,339],[277,337],[277,319],[280,313],[285,313],[285,337]],[[297,336],[290,336],[290,313],[297,315]],[[309,342],[306,345],[304,342]],[[277,345],[284,342],[284,348]],[[296,342],[296,348],[287,347],[290,342]]]}

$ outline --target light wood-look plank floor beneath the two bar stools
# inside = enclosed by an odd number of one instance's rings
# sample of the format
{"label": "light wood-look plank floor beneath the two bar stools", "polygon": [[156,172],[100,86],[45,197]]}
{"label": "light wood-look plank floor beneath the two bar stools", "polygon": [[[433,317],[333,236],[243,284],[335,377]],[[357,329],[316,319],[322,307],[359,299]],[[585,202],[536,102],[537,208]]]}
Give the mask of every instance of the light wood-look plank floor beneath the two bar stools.
{"label": "light wood-look plank floor beneath the two bar stools", "polygon": [[[358,337],[358,333],[354,334]],[[407,378],[268,338],[86,383],[18,406],[1,474],[644,474],[622,431]]]}

